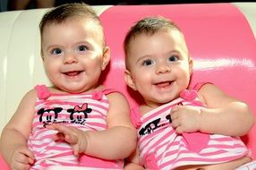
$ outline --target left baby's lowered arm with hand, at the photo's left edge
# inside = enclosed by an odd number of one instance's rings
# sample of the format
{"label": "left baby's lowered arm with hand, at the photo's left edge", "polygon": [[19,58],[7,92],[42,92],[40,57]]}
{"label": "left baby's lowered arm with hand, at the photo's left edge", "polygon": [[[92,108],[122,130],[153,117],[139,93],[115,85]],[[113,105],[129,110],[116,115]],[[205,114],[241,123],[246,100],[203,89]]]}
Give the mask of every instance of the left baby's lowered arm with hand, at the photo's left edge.
{"label": "left baby's lowered arm with hand, at the photo's left edge", "polygon": [[31,131],[35,101],[35,91],[31,90],[21,99],[20,106],[1,135],[2,154],[13,169],[26,168],[34,162],[34,156],[27,147],[27,140]]}

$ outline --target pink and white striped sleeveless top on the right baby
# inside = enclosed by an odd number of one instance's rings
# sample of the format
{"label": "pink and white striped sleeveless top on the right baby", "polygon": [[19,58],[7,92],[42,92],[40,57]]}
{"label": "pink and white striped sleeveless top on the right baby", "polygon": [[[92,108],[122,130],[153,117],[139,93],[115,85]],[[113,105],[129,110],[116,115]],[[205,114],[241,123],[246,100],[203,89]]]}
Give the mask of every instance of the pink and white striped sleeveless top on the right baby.
{"label": "pink and white striped sleeveless top on the right baby", "polygon": [[236,137],[202,132],[178,134],[172,127],[173,106],[204,106],[197,91],[185,89],[180,98],[141,115],[132,109],[132,123],[137,129],[140,162],[151,170],[174,169],[179,166],[218,164],[248,155],[243,141]]}

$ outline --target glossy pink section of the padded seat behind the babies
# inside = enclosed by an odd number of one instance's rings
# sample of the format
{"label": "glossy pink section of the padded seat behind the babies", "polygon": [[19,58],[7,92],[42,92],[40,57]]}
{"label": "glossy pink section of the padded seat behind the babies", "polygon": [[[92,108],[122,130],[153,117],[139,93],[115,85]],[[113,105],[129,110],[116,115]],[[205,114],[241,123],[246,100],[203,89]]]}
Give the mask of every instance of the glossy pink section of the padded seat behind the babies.
{"label": "glossy pink section of the padded seat behind the babies", "polygon": [[[101,81],[108,87],[122,91],[131,107],[138,105],[141,98],[124,82],[124,36],[133,22],[146,16],[161,15],[175,21],[184,32],[195,63],[192,84],[211,81],[226,93],[243,99],[256,114],[253,99],[256,95],[256,24],[252,21],[253,13],[248,12],[256,11],[255,3],[117,5],[103,8],[99,15],[105,28],[107,45],[111,47],[112,60],[106,78]],[[256,18],[256,13],[253,17]],[[242,137],[252,149],[254,159],[255,132],[254,126],[248,135]],[[8,169],[1,158],[0,167]]]}

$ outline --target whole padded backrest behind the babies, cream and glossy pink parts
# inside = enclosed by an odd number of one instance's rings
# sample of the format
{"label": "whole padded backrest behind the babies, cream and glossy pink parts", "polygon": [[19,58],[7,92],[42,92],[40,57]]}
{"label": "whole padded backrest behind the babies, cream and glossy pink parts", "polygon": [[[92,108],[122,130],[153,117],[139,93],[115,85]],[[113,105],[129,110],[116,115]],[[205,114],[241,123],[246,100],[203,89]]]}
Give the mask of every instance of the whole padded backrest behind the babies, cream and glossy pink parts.
{"label": "whole padded backrest behind the babies, cream and glossy pink parts", "polygon": [[[192,84],[211,81],[247,102],[256,115],[256,3],[116,5],[94,9],[104,25],[112,57],[101,81],[122,91],[131,107],[138,105],[140,97],[124,82],[124,36],[134,21],[161,15],[183,30],[194,59]],[[39,49],[38,23],[46,10],[0,13],[0,132],[28,90],[36,84],[51,85]],[[243,137],[254,158],[255,132],[254,126]],[[0,158],[0,167],[6,168],[1,161]]]}

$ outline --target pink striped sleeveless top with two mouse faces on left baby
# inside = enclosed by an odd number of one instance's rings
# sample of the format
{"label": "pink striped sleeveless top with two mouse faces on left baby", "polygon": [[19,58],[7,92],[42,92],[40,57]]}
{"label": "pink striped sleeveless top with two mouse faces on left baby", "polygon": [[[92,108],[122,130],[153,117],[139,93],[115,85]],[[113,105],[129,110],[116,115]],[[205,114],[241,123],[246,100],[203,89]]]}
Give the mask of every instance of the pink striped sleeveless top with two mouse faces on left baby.
{"label": "pink striped sleeveless top with two mouse faces on left baby", "polygon": [[63,123],[82,131],[103,131],[107,129],[109,103],[106,95],[114,89],[102,89],[85,94],[50,93],[45,85],[36,86],[38,98],[28,140],[36,162],[31,169],[47,166],[84,166],[105,169],[123,169],[124,160],[104,160],[80,154],[73,155],[73,149],[64,140],[54,140],[56,131],[46,128],[50,123]]}

